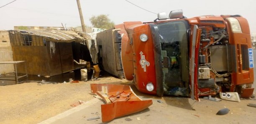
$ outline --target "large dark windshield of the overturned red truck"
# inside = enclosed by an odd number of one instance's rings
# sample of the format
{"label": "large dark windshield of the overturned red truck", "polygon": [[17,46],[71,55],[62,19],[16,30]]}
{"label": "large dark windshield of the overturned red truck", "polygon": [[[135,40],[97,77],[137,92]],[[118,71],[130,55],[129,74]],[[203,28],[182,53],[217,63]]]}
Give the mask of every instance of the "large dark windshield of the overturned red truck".
{"label": "large dark windshield of the overturned red truck", "polygon": [[161,42],[161,56],[169,57],[170,66],[163,67],[164,93],[187,96],[189,87],[189,54],[187,21],[157,24]]}

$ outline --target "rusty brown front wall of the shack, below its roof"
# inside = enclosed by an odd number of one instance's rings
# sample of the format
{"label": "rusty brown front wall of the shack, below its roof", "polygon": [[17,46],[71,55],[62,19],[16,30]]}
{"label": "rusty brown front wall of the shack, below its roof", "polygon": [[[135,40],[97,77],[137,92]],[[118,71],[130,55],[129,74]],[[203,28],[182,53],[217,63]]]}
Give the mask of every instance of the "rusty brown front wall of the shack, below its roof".
{"label": "rusty brown front wall of the shack, below its roof", "polygon": [[[13,50],[13,60],[26,61],[28,74],[53,76],[74,69],[72,43],[64,43],[64,46],[61,45],[59,47],[59,44],[62,43],[52,42],[55,50],[53,52],[50,41],[44,37],[31,35],[32,43],[26,46],[23,35],[17,32],[11,32],[9,36]],[[61,63],[65,66],[62,67]],[[26,73],[24,64],[18,64],[17,68],[18,73]]]}

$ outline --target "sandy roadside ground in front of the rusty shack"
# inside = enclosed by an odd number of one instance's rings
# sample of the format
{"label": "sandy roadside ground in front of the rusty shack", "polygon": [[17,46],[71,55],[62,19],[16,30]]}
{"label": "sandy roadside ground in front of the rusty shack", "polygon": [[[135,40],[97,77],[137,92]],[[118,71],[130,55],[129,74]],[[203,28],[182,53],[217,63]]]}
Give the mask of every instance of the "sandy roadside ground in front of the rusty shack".
{"label": "sandy roadside ground in front of the rusty shack", "polygon": [[90,83],[127,82],[115,77],[79,83],[36,82],[0,86],[0,124],[35,124],[71,109],[78,100],[88,101]]}

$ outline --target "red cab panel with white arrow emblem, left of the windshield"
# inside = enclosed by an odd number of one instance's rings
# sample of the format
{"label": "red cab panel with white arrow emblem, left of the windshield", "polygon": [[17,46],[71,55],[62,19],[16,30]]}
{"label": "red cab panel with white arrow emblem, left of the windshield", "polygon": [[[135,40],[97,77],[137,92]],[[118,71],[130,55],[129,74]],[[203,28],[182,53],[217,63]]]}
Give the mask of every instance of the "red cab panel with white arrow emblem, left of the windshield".
{"label": "red cab panel with white arrow emblem, left of the windshield", "polygon": [[[136,77],[136,87],[141,92],[156,94],[156,71],[151,30],[147,24],[134,28],[134,30],[140,29],[142,31],[133,34],[133,67]],[[148,40],[146,42],[140,40],[140,35],[143,33],[148,35]],[[152,82],[154,85],[154,90],[152,92],[146,90],[146,84],[149,82]]]}

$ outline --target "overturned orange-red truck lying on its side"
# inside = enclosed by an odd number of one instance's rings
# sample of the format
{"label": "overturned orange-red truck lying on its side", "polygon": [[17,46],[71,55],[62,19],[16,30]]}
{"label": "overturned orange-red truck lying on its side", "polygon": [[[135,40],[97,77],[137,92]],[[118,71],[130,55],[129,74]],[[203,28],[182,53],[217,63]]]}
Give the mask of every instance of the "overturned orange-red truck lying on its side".
{"label": "overturned orange-red truck lying on its side", "polygon": [[96,39],[103,69],[133,80],[141,92],[197,100],[218,92],[253,94],[250,30],[240,15],[162,12],[154,22],[123,22]]}

